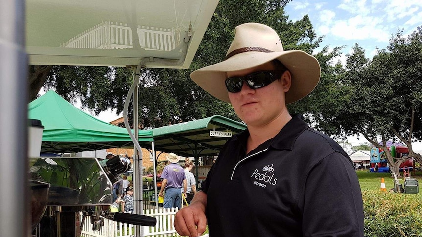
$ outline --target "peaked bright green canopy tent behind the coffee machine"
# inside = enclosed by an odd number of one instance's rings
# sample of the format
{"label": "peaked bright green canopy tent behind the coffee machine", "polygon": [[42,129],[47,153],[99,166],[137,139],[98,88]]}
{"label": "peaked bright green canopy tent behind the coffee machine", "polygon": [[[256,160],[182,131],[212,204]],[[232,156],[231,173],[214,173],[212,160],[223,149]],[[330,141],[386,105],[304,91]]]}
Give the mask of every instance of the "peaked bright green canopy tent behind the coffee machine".
{"label": "peaked bright green canopy tent behind the coffee machine", "polygon": [[[41,152],[80,152],[131,147],[125,128],[103,122],[74,107],[50,90],[29,103],[28,117],[44,126]],[[139,131],[139,141],[153,141],[152,131]]]}

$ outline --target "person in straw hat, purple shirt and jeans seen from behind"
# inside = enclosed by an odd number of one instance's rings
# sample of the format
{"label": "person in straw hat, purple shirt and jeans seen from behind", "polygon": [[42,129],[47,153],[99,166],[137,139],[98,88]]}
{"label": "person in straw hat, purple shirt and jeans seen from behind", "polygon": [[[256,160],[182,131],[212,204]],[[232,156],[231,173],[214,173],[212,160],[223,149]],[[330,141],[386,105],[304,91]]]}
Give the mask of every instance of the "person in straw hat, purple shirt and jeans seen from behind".
{"label": "person in straw hat, purple shirt and jeans seen from behind", "polygon": [[187,189],[187,181],[185,176],[185,171],[183,168],[177,164],[179,162],[179,157],[174,154],[170,153],[167,155],[167,160],[170,162],[169,165],[165,166],[163,172],[161,173],[161,178],[163,181],[161,183],[160,192],[158,193],[159,196],[163,196],[163,191],[165,188],[165,195],[164,195],[164,208],[182,208],[182,191],[183,188],[183,195],[186,198],[186,189]]}

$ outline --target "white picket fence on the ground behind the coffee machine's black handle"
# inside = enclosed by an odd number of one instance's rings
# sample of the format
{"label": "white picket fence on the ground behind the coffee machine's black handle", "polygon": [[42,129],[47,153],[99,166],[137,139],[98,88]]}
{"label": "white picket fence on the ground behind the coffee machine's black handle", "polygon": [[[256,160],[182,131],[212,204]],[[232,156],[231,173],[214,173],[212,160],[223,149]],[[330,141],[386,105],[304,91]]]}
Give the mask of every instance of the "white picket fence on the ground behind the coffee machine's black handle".
{"label": "white picket fence on the ground behind the coffee machine's black handle", "polygon": [[[144,226],[143,233],[145,237],[174,237],[177,235],[174,229],[174,216],[178,211],[177,208],[159,208],[158,213],[156,209],[144,210],[144,215],[154,216],[157,219],[157,224],[153,227]],[[81,216],[82,219],[82,216]],[[82,226],[81,236],[83,237],[130,237],[135,235],[133,225],[124,224],[104,218],[104,226],[99,231],[92,230],[92,224],[89,217],[86,217],[84,225]]]}

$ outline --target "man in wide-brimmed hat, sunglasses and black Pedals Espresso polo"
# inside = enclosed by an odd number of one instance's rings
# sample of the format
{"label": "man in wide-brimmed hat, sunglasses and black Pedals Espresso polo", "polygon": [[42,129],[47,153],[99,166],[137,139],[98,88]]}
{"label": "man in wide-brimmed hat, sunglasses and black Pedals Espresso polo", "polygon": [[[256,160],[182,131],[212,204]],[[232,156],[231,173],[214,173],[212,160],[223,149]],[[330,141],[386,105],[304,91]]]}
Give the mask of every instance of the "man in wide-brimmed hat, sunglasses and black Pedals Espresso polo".
{"label": "man in wide-brimmed hat, sunglasses and black Pedals Espresso polo", "polygon": [[318,84],[316,58],[284,51],[271,27],[236,27],[224,61],[192,80],[231,103],[247,129],[232,136],[191,204],[178,211],[182,236],[364,236],[362,194],[352,161],[286,105]]}

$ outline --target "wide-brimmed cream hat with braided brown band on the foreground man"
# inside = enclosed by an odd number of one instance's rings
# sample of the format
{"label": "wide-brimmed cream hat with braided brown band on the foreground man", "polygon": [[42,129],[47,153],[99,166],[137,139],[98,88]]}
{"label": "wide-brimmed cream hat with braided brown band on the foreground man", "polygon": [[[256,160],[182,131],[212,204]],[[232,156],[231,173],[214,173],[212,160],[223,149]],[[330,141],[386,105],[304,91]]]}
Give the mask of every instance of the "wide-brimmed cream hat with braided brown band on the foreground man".
{"label": "wide-brimmed cream hat with braided brown band on the foreground man", "polygon": [[198,69],[190,77],[212,96],[230,103],[226,73],[263,65],[274,59],[285,65],[292,75],[286,104],[302,99],[317,86],[321,76],[318,60],[301,50],[284,51],[277,32],[259,23],[237,26],[226,59]]}

